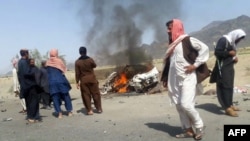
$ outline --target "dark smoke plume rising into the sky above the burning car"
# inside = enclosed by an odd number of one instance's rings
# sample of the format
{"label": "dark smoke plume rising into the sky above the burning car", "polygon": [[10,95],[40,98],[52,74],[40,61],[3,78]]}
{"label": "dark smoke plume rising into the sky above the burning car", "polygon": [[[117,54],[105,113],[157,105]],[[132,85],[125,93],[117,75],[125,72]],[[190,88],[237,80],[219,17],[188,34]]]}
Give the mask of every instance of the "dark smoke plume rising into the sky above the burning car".
{"label": "dark smoke plume rising into the sky above the burning car", "polygon": [[[84,42],[98,64],[103,65],[152,61],[151,53],[157,49],[153,46],[167,42],[166,21],[179,18],[181,9],[181,0],[86,0],[85,3],[91,6],[94,18]],[[148,29],[154,32],[154,43],[144,48],[142,36]]]}

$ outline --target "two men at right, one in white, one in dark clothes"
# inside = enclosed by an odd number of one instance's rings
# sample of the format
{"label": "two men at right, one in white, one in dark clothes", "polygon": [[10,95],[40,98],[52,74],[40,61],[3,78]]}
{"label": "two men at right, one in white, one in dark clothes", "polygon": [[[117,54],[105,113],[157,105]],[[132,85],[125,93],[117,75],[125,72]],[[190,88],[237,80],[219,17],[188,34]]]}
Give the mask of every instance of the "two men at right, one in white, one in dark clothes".
{"label": "two men at right, one in white, one in dark clothes", "polygon": [[[163,86],[168,88],[171,102],[175,104],[180,117],[183,133],[177,134],[176,137],[193,137],[200,140],[205,126],[195,109],[199,82],[197,70],[208,60],[209,48],[200,40],[185,34],[183,23],[179,19],[168,21],[166,27],[169,46],[161,81]],[[213,81],[210,82],[216,82],[219,103],[225,113],[233,117],[237,117],[236,111],[239,111],[239,108],[233,105],[234,64],[238,61],[236,45],[245,36],[246,33],[242,29],[233,30],[218,39],[214,51],[217,59],[210,78]]]}

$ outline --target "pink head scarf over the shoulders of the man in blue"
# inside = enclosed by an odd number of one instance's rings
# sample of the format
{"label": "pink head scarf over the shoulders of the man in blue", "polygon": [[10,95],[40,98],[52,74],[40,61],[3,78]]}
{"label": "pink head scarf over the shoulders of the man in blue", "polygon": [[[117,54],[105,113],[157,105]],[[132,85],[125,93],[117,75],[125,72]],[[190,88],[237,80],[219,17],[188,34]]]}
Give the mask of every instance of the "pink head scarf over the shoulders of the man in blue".
{"label": "pink head scarf over the shoulders of the man in blue", "polygon": [[46,62],[46,66],[54,67],[61,70],[63,73],[66,72],[66,66],[64,65],[63,61],[58,58],[58,50],[51,49],[49,52],[50,58]]}

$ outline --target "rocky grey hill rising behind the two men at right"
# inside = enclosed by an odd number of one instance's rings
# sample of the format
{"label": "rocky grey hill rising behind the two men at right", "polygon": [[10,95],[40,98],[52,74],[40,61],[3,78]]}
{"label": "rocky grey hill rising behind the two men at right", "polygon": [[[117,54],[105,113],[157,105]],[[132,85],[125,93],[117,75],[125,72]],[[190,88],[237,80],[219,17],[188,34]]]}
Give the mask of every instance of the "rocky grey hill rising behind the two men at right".
{"label": "rocky grey hill rising behind the two men at right", "polygon": [[[217,40],[222,35],[227,34],[228,32],[237,28],[241,28],[247,33],[245,40],[240,42],[238,47],[249,47],[250,36],[248,36],[248,33],[250,33],[250,17],[246,15],[226,21],[213,21],[207,26],[203,27],[201,30],[189,33],[189,35],[203,41],[212,51]],[[144,44],[142,47],[145,48],[145,51],[151,54],[153,58],[160,59],[166,51],[166,44],[167,43],[153,42],[151,45]]]}

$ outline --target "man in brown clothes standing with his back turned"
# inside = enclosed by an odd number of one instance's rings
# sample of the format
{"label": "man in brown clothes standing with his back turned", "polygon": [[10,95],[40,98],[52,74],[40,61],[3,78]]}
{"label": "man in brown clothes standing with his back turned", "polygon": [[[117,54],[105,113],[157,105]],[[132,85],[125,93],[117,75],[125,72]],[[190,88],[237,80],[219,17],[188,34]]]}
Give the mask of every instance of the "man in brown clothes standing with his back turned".
{"label": "man in brown clothes standing with his back turned", "polygon": [[93,115],[91,107],[92,98],[97,113],[102,113],[99,83],[94,74],[96,63],[91,57],[87,56],[87,49],[85,47],[80,47],[79,53],[81,56],[75,61],[75,80],[77,89],[80,87],[82,101],[87,110],[87,115]]}

